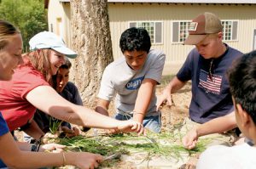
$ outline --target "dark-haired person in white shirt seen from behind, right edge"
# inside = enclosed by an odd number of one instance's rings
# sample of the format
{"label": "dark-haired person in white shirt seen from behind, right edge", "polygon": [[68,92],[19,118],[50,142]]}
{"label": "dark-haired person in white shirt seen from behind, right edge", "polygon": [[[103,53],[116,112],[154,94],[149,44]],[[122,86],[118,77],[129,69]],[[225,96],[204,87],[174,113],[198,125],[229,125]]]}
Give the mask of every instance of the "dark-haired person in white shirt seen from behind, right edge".
{"label": "dark-haired person in white shirt seen from behind, right edge", "polygon": [[[245,137],[256,143],[256,52],[244,54],[228,71],[230,92],[237,126]],[[198,169],[256,168],[255,145],[247,143],[226,147],[215,145],[200,156]]]}

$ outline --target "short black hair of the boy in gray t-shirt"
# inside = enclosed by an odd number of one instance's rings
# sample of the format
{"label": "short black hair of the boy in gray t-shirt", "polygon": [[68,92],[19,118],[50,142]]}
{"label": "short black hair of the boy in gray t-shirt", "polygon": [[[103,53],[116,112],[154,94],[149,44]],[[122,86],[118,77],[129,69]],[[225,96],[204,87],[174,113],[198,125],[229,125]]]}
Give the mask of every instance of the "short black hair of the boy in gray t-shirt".
{"label": "short black hair of the boy in gray t-shirt", "polygon": [[122,53],[125,51],[146,51],[149,52],[151,47],[148,31],[143,28],[132,27],[125,30],[119,42]]}

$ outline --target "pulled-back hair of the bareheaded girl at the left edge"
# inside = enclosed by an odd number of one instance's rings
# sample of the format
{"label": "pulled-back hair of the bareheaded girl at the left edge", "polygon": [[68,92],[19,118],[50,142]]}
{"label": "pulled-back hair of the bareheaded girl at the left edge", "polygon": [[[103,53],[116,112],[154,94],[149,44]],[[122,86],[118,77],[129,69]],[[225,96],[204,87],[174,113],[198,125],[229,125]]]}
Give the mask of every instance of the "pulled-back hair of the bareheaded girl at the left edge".
{"label": "pulled-back hair of the bareheaded girl at the left edge", "polygon": [[20,34],[20,31],[14,25],[8,21],[0,20],[0,49],[4,48],[8,44],[9,38],[17,33]]}

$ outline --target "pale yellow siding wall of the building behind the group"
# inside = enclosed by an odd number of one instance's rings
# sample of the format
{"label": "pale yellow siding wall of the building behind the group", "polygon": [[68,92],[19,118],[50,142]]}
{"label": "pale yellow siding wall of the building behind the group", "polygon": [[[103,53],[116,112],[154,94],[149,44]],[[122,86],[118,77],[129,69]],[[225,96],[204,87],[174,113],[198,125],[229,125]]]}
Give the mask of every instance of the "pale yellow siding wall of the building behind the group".
{"label": "pale yellow siding wall of the building behind the group", "polygon": [[[60,8],[60,10],[59,10]],[[188,4],[188,3],[108,3],[113,58],[122,54],[119,50],[119,37],[132,21],[161,21],[162,43],[153,44],[166,53],[164,74],[175,74],[189,51],[194,46],[172,42],[172,21],[192,20],[204,12],[218,14],[221,20],[238,20],[238,40],[227,42],[231,47],[247,53],[253,50],[253,31],[256,30],[256,5],[242,4]],[[63,21],[63,39],[71,47],[70,4],[49,1],[49,25],[56,27],[56,18]],[[56,32],[56,28],[53,29]]]}

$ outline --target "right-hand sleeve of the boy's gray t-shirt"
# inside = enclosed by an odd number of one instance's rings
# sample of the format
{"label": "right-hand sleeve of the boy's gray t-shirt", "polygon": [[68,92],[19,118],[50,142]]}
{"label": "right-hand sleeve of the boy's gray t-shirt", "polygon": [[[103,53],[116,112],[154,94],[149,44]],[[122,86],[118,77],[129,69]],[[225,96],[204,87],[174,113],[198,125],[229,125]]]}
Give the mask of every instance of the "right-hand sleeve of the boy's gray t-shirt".
{"label": "right-hand sleeve of the boy's gray t-shirt", "polygon": [[[153,57],[153,56],[149,56],[149,57]],[[152,61],[152,64],[150,65],[150,68],[147,74],[145,75],[145,79],[153,79],[158,84],[160,84],[162,72],[164,69],[165,61],[166,61],[166,54],[159,51],[157,53],[157,57],[155,58],[156,59]]]}

